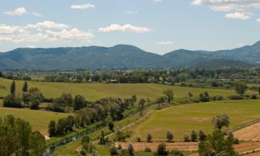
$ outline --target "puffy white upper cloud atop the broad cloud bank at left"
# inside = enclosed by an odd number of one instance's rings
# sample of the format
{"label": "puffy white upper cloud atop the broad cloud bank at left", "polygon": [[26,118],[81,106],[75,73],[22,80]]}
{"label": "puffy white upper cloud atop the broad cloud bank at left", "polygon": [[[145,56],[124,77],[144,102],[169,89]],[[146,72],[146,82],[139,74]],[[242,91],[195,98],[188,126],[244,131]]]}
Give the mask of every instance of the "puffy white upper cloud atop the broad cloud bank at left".
{"label": "puffy white upper cloud atop the broad cloud bank at left", "polygon": [[56,28],[56,29],[64,29],[69,28],[67,24],[58,24],[53,21],[43,21],[38,22],[37,24],[28,24],[26,28],[35,28],[37,31],[42,31],[43,28]]}

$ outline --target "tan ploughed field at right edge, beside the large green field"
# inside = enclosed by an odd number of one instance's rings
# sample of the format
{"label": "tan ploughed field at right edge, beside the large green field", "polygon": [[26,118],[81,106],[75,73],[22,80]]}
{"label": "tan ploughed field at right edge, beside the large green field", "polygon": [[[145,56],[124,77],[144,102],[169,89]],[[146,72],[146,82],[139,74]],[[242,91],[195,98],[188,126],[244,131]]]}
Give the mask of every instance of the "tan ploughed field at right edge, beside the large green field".
{"label": "tan ploughed field at right edge, beside the large green field", "polygon": [[234,137],[243,141],[260,141],[260,122],[236,130],[234,132]]}

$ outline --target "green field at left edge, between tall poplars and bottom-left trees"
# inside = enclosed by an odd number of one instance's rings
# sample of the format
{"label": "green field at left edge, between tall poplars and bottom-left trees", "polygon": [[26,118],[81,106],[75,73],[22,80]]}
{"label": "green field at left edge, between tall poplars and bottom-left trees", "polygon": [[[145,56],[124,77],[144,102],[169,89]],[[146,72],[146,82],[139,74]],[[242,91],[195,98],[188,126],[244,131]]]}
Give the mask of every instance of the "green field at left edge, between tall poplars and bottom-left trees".
{"label": "green field at left edge, between tall poplars and bottom-left trees", "polygon": [[12,114],[17,118],[21,118],[25,121],[28,121],[33,126],[33,130],[39,130],[44,135],[48,134],[48,125],[51,120],[58,120],[68,115],[55,112],[46,112],[41,110],[0,107],[1,118],[7,116],[8,114]]}

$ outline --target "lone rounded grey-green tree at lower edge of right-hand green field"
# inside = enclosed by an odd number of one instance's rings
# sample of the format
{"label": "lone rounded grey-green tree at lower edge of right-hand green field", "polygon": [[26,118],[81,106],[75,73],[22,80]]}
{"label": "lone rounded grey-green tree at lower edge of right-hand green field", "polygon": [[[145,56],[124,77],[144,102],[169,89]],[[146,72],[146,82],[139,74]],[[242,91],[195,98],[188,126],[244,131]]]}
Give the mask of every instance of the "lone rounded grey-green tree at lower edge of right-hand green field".
{"label": "lone rounded grey-green tree at lower edge of right-hand green field", "polygon": [[222,115],[217,115],[212,119],[212,123],[214,123],[214,127],[220,130],[223,126],[229,126],[229,116],[226,113]]}

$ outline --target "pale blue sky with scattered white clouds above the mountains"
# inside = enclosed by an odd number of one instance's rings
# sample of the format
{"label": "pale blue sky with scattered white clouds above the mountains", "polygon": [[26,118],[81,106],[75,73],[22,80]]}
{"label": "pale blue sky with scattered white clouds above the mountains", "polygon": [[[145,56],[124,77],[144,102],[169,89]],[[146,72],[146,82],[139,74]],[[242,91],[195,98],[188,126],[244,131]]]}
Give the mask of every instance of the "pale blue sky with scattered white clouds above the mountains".
{"label": "pale blue sky with scattered white clouds above the mountains", "polygon": [[2,0],[0,51],[131,44],[164,54],[260,40],[260,0]]}

